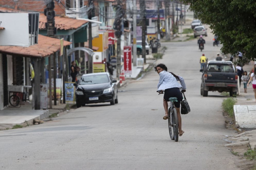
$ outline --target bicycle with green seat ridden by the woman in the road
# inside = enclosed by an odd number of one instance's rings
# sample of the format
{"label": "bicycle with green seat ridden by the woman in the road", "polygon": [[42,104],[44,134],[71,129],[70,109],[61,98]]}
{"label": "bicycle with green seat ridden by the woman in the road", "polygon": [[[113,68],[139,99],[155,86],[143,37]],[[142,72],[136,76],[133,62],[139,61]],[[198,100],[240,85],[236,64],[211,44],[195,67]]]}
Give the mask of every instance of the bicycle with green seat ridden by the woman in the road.
{"label": "bicycle with green seat ridden by the woman in the road", "polygon": [[[156,91],[158,92],[158,91]],[[158,95],[163,94],[159,93]],[[179,122],[177,110],[174,107],[174,101],[178,101],[176,97],[170,97],[168,101],[168,126],[169,126],[169,134],[170,138],[175,142],[179,140]]]}

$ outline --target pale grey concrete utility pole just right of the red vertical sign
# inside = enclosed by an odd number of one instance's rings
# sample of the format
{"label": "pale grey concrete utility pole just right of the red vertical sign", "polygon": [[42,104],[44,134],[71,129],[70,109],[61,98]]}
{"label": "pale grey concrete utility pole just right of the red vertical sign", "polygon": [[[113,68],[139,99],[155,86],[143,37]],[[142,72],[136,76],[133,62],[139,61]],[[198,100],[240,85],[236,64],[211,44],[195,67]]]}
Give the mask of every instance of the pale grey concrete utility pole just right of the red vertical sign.
{"label": "pale grey concrete utility pole just right of the red vertical sign", "polygon": [[133,66],[137,66],[137,6],[133,0]]}

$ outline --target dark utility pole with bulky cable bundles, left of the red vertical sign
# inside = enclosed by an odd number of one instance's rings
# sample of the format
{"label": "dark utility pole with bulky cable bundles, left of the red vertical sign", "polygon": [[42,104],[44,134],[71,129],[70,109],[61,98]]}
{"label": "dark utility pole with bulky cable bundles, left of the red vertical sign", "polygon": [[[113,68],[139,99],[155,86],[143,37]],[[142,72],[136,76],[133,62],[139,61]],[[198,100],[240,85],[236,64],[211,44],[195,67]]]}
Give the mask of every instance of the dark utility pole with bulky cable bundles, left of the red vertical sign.
{"label": "dark utility pole with bulky cable bundles, left of the red vertical sign", "polygon": [[119,80],[119,75],[121,72],[121,35],[122,35],[122,17],[123,17],[123,9],[121,5],[121,1],[117,1],[116,7],[116,19],[114,21],[115,26],[115,35],[117,36],[117,78]]}

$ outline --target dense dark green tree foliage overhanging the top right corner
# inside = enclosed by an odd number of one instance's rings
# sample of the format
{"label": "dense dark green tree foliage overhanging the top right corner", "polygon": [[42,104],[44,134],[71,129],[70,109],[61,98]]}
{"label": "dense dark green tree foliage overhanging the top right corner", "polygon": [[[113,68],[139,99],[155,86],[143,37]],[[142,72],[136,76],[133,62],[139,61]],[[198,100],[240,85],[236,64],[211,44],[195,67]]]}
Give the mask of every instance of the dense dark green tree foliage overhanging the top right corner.
{"label": "dense dark green tree foliage overhanging the top right corner", "polygon": [[244,60],[256,59],[256,1],[255,0],[182,0],[190,4],[198,19],[210,26],[223,44],[222,52],[237,55],[243,51]]}

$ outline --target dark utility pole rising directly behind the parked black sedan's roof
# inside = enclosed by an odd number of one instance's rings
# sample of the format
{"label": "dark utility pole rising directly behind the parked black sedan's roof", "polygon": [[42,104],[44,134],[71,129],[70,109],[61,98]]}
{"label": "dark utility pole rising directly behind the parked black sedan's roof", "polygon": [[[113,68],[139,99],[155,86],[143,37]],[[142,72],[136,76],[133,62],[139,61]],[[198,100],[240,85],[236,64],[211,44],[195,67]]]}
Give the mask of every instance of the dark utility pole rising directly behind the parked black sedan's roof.
{"label": "dark utility pole rising directly behind the parked black sedan's roof", "polygon": [[[88,11],[88,19],[92,19],[92,6],[93,6],[93,0],[88,0],[89,8],[91,8]],[[89,38],[89,49],[92,49],[92,22],[88,23],[88,38]],[[92,73],[92,56],[88,57],[88,72]]]}

